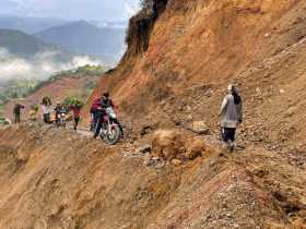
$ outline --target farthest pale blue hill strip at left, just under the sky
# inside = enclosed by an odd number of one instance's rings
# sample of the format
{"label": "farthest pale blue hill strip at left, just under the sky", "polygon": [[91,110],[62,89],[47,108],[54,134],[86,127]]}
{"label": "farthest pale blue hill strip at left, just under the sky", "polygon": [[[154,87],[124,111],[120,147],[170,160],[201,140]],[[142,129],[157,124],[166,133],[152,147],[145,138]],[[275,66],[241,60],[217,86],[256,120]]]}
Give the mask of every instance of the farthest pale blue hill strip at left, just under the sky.
{"label": "farthest pale blue hill strip at left, just under the sky", "polygon": [[0,16],[0,28],[22,31],[26,34],[38,33],[66,23],[64,20],[51,17]]}

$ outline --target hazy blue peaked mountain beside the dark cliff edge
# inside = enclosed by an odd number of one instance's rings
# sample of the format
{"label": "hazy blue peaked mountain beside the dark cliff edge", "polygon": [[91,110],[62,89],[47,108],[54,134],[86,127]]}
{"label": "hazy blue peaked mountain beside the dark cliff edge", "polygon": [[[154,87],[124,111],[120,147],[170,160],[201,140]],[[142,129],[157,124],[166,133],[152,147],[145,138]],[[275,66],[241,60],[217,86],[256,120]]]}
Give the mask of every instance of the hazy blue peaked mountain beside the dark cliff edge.
{"label": "hazy blue peaked mountain beside the dark cliff edge", "polygon": [[118,58],[125,49],[123,28],[101,28],[85,21],[52,27],[35,36],[79,53]]}

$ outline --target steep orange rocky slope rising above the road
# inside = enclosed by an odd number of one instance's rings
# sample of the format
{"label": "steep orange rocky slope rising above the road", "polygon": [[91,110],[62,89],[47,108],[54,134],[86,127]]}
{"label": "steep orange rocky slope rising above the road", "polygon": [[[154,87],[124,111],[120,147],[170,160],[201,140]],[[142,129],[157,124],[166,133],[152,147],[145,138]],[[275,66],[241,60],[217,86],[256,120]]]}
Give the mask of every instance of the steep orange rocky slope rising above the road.
{"label": "steep orange rocky slope rising above the road", "polygon": [[[154,2],[152,14],[131,20],[129,50],[93,97],[108,89],[138,118],[154,114],[158,122],[185,123],[204,119],[214,126],[226,85],[236,83],[245,97],[247,130],[263,132],[262,140],[271,142],[281,138],[283,130],[298,129],[304,110],[304,94],[297,89],[305,82],[304,1]],[[303,129],[296,134],[303,140]]]}

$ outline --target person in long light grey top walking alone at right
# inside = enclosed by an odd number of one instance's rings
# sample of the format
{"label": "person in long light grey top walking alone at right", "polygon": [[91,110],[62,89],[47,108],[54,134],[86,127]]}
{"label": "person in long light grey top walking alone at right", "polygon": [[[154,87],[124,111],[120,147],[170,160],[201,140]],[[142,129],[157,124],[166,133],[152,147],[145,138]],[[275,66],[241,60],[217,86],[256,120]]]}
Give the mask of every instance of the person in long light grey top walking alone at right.
{"label": "person in long light grey top walking alone at right", "polygon": [[221,110],[222,138],[227,148],[235,148],[236,129],[243,122],[243,99],[234,85],[228,85],[227,95],[224,97]]}

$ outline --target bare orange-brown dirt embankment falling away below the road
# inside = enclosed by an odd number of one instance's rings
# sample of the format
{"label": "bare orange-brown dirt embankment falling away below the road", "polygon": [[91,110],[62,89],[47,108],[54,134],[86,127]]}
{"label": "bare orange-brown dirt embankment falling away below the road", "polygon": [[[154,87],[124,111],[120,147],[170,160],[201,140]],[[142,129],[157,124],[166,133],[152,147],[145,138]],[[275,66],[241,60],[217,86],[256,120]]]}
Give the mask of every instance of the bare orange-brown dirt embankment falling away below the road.
{"label": "bare orange-brown dirt embankment falling away below the road", "polygon": [[204,150],[183,165],[148,157],[48,126],[0,130],[0,228],[303,224],[305,170],[281,155],[249,146],[229,156]]}

